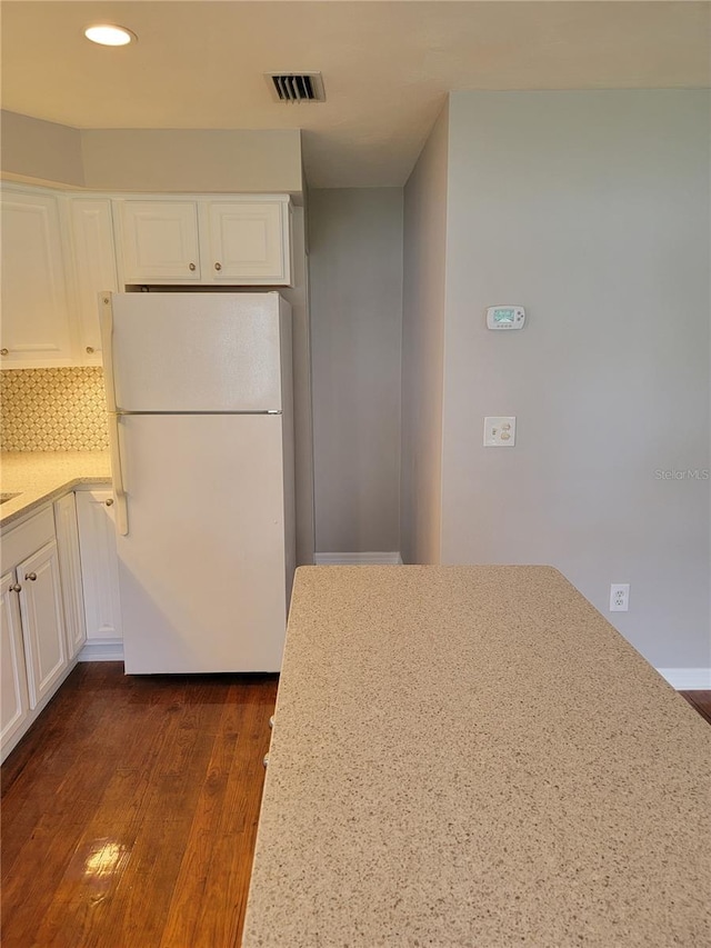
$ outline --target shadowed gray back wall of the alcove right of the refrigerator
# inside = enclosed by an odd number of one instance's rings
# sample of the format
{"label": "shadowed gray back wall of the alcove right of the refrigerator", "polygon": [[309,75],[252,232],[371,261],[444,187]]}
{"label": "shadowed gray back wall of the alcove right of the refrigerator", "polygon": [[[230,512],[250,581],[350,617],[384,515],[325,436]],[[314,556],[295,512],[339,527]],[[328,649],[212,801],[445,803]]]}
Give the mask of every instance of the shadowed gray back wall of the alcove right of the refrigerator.
{"label": "shadowed gray back wall of the alcove right of the refrigerator", "polygon": [[309,192],[319,552],[399,550],[402,190]]}

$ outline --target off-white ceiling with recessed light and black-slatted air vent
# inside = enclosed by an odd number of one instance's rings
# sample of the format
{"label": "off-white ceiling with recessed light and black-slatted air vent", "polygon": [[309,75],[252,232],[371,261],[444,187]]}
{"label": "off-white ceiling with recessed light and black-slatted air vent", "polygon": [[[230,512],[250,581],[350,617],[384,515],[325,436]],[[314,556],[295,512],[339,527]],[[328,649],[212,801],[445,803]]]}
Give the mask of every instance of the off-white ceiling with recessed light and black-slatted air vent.
{"label": "off-white ceiling with recessed light and black-slatted air vent", "polygon": [[[74,128],[304,130],[312,187],[400,186],[450,90],[710,84],[709,2],[4,0],[2,107]],[[139,42],[88,42],[91,22]],[[327,102],[263,73],[319,70]]]}

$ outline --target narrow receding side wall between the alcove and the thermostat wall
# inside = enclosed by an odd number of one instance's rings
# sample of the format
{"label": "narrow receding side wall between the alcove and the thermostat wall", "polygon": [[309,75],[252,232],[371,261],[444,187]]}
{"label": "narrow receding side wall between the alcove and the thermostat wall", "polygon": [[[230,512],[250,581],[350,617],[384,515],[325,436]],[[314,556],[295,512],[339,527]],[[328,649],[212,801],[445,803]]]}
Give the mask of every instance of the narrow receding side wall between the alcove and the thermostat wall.
{"label": "narrow receding side wall between the alcove and the thermostat wall", "polygon": [[400,480],[404,562],[440,561],[448,132],[444,108],[404,189]]}

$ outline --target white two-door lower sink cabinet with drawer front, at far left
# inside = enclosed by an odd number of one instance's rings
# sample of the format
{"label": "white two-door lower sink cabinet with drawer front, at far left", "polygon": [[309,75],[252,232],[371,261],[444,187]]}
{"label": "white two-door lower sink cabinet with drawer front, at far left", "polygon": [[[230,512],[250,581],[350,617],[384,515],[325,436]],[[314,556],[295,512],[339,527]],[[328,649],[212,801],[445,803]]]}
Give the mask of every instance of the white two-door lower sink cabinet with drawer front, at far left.
{"label": "white two-door lower sink cabinet with drawer front, at far left", "polygon": [[71,668],[51,507],[3,536],[1,560],[4,759]]}

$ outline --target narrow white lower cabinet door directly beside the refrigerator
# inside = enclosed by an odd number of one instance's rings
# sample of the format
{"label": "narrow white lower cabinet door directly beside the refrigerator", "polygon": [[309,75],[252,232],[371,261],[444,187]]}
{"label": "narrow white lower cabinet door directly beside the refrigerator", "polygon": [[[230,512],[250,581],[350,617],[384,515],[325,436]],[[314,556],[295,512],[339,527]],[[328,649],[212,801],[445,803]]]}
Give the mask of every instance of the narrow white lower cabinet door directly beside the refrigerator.
{"label": "narrow white lower cabinet door directly beside the refrigerator", "polygon": [[87,641],[120,640],[119,566],[111,491],[77,491],[77,518]]}

